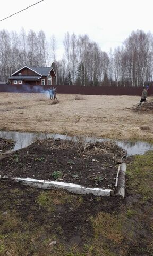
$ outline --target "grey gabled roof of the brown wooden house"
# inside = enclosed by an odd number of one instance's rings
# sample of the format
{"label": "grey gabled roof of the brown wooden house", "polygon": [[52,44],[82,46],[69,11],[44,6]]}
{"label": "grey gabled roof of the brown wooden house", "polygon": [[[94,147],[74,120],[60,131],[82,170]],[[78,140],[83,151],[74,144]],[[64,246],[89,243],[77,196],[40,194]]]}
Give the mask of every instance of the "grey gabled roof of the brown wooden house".
{"label": "grey gabled roof of the brown wooden house", "polygon": [[[50,71],[53,69],[52,67],[36,67],[36,68],[34,67],[33,68],[33,67],[24,66],[24,67],[20,68],[19,70],[16,70],[14,73],[12,73],[11,76],[18,73],[23,68],[29,68],[30,70],[34,71],[35,73],[37,73],[40,76],[48,76]],[[53,69],[53,71],[54,71],[54,69]],[[54,74],[55,74],[55,71],[54,71]],[[55,76],[56,76],[56,74],[55,74]]]}

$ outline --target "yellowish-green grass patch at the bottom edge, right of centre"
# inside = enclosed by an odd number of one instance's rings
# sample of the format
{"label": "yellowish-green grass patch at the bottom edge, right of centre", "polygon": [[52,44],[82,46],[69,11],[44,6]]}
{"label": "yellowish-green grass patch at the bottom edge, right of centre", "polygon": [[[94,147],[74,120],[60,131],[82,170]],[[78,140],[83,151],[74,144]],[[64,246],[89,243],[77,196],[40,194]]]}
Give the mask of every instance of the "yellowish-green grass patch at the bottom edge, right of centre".
{"label": "yellowish-green grass patch at the bottom edge, right of centre", "polygon": [[[94,229],[94,238],[90,244],[86,244],[84,247],[87,255],[126,255],[126,246],[123,244],[125,214],[116,215],[115,213],[100,212],[96,217],[90,217],[90,220]],[[118,252],[115,253],[117,250]]]}

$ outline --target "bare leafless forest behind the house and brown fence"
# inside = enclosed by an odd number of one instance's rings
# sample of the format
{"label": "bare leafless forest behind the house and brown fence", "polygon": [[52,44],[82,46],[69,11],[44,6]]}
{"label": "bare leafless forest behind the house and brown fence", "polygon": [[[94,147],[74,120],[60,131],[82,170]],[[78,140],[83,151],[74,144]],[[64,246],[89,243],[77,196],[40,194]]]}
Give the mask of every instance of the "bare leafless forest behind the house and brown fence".
{"label": "bare leafless forest behind the house and brown fence", "polygon": [[[103,36],[101,36],[103,40]],[[88,35],[65,33],[64,54],[56,59],[54,35],[47,41],[43,30],[24,29],[18,34],[0,30],[0,81],[6,82],[23,66],[53,66],[57,85],[79,86],[144,86],[152,81],[153,35],[133,31],[122,46],[109,53],[101,51]]]}

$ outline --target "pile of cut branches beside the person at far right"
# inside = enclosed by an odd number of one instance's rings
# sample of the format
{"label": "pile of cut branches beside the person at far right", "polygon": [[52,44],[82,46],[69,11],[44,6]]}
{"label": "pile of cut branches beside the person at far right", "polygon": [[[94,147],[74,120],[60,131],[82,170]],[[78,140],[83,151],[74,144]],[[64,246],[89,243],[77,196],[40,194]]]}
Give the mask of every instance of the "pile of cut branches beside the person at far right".
{"label": "pile of cut branches beside the person at far right", "polygon": [[137,112],[148,111],[148,113],[153,113],[153,101],[141,102],[137,105],[134,105],[131,108],[126,108],[126,109],[137,111]]}

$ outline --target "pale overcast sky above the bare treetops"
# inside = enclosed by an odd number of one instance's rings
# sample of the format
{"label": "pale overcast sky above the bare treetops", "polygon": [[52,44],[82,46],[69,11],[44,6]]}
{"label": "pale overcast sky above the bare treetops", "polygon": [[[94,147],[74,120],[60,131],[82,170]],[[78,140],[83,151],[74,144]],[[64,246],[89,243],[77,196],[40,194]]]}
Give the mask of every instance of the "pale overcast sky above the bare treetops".
{"label": "pale overcast sky above the bare treetops", "polygon": [[[40,0],[0,0],[0,20]],[[0,22],[0,30],[24,27],[35,32],[43,29],[47,41],[52,34],[57,41],[57,59],[63,55],[64,34],[88,34],[102,51],[122,45],[132,30],[153,33],[152,0],[44,0]]]}

